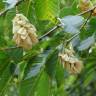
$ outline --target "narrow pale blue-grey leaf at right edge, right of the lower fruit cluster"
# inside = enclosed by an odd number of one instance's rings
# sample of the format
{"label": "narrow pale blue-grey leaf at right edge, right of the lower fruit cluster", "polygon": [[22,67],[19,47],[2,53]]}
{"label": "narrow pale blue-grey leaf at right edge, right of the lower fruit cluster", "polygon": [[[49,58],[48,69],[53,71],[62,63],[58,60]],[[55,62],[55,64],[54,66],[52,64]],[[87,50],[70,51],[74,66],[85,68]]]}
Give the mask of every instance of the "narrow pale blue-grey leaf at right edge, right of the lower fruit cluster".
{"label": "narrow pale blue-grey leaf at right edge, right of the lower fruit cluster", "polygon": [[78,47],[78,50],[79,50],[79,51],[86,50],[86,49],[88,49],[90,46],[92,46],[94,43],[95,43],[95,38],[94,38],[94,36],[90,36],[90,37],[88,37],[87,39],[83,40],[83,41],[80,43],[80,46]]}

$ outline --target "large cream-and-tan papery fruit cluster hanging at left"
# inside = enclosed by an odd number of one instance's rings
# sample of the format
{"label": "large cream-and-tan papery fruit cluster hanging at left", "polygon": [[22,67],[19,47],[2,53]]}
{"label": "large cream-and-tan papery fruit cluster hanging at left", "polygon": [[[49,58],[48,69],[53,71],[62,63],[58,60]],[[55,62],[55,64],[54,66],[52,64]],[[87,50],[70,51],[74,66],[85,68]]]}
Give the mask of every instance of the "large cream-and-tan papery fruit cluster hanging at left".
{"label": "large cream-and-tan papery fruit cluster hanging at left", "polygon": [[38,42],[36,28],[23,14],[16,14],[13,19],[13,40],[19,47],[31,49]]}

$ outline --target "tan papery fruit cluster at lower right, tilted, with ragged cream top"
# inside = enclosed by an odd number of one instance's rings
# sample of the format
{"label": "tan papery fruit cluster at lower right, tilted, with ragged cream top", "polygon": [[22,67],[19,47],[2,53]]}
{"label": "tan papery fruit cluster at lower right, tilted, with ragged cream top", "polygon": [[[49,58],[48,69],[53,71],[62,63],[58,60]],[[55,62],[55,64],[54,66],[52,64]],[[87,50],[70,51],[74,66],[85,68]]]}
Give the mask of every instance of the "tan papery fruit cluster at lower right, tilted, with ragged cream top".
{"label": "tan papery fruit cluster at lower right, tilted, with ragged cream top", "polygon": [[64,53],[59,53],[59,58],[64,68],[71,74],[78,74],[83,68],[82,61],[80,61],[73,54],[74,52],[69,49],[65,49]]}

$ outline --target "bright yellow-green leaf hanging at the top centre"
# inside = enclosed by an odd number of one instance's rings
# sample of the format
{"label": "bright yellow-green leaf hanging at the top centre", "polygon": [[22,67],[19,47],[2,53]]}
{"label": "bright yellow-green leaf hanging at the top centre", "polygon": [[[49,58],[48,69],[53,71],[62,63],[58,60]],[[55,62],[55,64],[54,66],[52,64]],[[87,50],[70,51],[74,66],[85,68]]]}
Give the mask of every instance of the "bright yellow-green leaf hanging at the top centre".
{"label": "bright yellow-green leaf hanging at the top centre", "polygon": [[39,20],[52,20],[59,16],[59,0],[35,0]]}

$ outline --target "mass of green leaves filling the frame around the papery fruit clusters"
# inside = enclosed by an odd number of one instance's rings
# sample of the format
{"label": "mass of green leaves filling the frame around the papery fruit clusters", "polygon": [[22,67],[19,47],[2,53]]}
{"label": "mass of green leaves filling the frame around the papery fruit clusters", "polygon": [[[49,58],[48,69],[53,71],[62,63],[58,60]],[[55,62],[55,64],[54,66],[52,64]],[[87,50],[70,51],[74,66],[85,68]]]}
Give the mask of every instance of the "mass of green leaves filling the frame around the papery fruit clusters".
{"label": "mass of green leaves filling the frame around the papery fruit clusters", "polygon": [[[80,12],[78,0],[21,0],[18,11],[36,26],[38,37],[58,24],[57,17],[63,23],[25,52],[14,48],[12,41],[17,0],[3,1],[0,10],[8,12],[0,15],[0,96],[95,96],[96,17],[80,30],[86,17],[76,15]],[[73,76],[62,68],[58,53],[62,41],[79,32],[72,44],[85,67],[80,75]]]}

